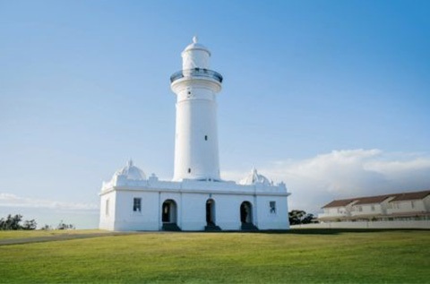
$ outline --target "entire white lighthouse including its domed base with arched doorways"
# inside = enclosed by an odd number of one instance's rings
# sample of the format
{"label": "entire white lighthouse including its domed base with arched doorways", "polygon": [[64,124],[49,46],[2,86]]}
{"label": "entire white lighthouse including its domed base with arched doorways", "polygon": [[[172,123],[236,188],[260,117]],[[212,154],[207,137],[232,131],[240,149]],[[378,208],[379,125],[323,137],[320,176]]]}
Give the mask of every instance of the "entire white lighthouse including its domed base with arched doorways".
{"label": "entire white lighthouse including its domed base with arched doorways", "polygon": [[222,76],[211,52],[197,43],[182,52],[171,78],[176,94],[175,170],[172,181],[128,164],[103,183],[99,228],[125,230],[288,229],[288,192],[255,169],[239,183],[219,175],[217,93]]}

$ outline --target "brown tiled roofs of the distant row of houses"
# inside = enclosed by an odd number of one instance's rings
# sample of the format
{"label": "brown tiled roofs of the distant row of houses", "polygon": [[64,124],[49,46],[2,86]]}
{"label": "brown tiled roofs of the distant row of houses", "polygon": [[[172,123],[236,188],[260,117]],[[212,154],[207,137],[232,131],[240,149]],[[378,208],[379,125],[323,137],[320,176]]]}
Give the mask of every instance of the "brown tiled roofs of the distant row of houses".
{"label": "brown tiled roofs of the distant row of houses", "polygon": [[393,197],[390,202],[398,202],[405,200],[417,200],[423,199],[427,195],[430,194],[430,190],[422,191],[422,192],[414,192],[414,193],[402,193],[402,194],[385,194],[385,195],[375,195],[375,196],[366,196],[366,197],[357,197],[357,198],[349,198],[349,199],[340,199],[334,200],[326,205],[323,208],[333,208],[333,207],[343,207],[348,204],[354,202],[354,205],[360,204],[374,204],[380,203],[386,200],[387,198]]}

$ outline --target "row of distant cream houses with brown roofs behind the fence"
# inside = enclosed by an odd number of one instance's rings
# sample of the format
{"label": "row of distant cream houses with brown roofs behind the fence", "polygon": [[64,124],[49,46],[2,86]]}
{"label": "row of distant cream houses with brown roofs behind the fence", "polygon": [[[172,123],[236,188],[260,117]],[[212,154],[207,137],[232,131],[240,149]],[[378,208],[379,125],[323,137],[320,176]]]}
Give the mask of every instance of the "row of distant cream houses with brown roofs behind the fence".
{"label": "row of distant cream houses with brown roofs behind the fence", "polygon": [[323,222],[430,219],[430,190],[334,200],[323,211]]}

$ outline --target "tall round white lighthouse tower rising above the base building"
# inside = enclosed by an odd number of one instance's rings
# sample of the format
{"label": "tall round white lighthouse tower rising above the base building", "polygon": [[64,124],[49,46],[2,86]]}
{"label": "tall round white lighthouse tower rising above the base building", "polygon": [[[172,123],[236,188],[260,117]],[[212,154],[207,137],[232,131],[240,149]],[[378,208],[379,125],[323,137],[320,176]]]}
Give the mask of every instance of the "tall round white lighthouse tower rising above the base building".
{"label": "tall round white lighthouse tower rising above the base building", "polygon": [[220,179],[216,94],[222,76],[210,69],[210,57],[193,37],[182,52],[182,70],[170,77],[177,96],[174,181]]}

